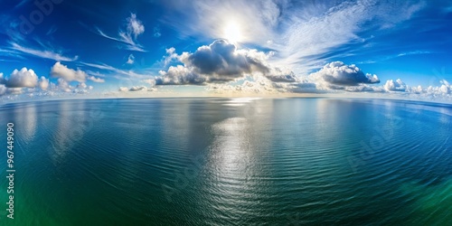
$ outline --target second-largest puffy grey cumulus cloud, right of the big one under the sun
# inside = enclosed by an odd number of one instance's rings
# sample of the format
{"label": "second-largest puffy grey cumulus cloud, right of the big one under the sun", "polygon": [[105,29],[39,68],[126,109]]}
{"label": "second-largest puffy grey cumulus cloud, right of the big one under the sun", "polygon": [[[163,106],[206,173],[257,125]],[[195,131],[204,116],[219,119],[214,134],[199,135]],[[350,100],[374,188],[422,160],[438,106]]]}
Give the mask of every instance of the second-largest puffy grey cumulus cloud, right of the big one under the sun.
{"label": "second-largest puffy grey cumulus cloud, right of the big one under the sun", "polygon": [[327,63],[324,68],[312,73],[310,76],[314,80],[323,80],[331,84],[334,89],[342,89],[341,86],[380,83],[377,75],[364,74],[356,65],[346,65],[342,61]]}

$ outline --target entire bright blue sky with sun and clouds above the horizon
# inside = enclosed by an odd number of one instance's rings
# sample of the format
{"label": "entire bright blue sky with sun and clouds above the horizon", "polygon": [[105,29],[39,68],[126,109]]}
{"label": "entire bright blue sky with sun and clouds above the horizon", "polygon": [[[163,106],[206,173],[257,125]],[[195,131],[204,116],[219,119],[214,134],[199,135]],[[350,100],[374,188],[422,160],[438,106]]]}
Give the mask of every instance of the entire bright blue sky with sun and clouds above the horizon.
{"label": "entire bright blue sky with sun and clouds above the horizon", "polygon": [[0,100],[452,102],[451,21],[441,0],[0,0]]}

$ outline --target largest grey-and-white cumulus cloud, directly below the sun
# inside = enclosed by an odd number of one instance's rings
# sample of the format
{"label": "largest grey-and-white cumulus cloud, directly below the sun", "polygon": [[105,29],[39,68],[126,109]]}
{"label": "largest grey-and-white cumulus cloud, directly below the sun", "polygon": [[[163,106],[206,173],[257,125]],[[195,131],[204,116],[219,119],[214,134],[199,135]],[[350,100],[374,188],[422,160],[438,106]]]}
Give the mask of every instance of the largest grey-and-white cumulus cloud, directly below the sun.
{"label": "largest grey-and-white cumulus cloud, directly below the sun", "polygon": [[273,52],[238,50],[236,45],[225,40],[203,45],[193,53],[177,55],[174,51],[174,48],[166,50],[165,64],[177,59],[184,66],[171,66],[168,71],[160,71],[162,77],[157,79],[157,85],[224,83],[255,74],[272,81],[297,81],[292,71],[268,63]]}

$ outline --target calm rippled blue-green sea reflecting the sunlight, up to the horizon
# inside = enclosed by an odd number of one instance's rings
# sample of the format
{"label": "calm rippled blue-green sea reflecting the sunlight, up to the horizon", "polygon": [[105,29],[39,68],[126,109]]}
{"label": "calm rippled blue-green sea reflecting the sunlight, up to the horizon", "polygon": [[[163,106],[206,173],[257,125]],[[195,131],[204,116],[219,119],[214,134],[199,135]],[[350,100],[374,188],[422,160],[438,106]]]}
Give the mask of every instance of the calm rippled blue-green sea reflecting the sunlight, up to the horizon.
{"label": "calm rippled blue-green sea reflecting the sunlight, up to the horizon", "polygon": [[0,225],[452,222],[450,105],[60,100],[3,105],[0,125]]}

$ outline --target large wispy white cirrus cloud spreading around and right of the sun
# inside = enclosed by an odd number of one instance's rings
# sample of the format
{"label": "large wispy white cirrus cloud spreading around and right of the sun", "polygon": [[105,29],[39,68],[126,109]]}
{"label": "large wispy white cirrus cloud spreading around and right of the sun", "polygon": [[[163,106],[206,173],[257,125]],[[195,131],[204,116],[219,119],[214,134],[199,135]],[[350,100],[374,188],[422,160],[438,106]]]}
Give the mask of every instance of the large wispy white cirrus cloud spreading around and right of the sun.
{"label": "large wispy white cirrus cloud spreading around and right of the sun", "polygon": [[[166,1],[177,12],[164,18],[182,35],[224,37],[236,24],[242,43],[276,52],[272,63],[307,74],[350,51],[334,49],[363,42],[363,32],[391,29],[422,9],[422,1]],[[404,9],[404,10],[400,10]],[[182,16],[182,18],[181,18]],[[366,34],[367,35],[367,34]]]}

